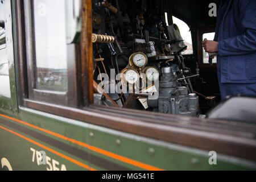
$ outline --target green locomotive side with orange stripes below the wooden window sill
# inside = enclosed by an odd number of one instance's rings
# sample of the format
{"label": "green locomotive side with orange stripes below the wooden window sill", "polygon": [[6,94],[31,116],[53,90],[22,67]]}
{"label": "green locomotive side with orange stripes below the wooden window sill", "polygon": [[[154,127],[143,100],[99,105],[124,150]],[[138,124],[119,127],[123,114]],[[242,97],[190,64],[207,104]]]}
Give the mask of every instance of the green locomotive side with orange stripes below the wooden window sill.
{"label": "green locomotive side with orange stripes below the wooden window sill", "polygon": [[[1,111],[1,159],[14,170],[248,170],[250,163],[209,152],[106,129],[40,111]],[[13,118],[15,117],[15,118]],[[18,118],[18,119],[16,119]],[[36,152],[47,164],[38,165]],[[5,168],[3,168],[5,169]]]}

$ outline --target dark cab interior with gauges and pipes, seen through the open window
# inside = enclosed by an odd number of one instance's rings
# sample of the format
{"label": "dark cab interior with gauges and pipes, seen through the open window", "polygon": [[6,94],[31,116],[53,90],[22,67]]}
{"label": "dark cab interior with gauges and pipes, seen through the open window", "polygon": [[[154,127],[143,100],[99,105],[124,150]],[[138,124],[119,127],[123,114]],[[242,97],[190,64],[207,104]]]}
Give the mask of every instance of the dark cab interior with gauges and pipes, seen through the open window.
{"label": "dark cab interior with gauges and pipes, seen through the open window", "polygon": [[214,36],[210,3],[92,1],[94,104],[204,117],[220,102],[216,57],[201,46]]}

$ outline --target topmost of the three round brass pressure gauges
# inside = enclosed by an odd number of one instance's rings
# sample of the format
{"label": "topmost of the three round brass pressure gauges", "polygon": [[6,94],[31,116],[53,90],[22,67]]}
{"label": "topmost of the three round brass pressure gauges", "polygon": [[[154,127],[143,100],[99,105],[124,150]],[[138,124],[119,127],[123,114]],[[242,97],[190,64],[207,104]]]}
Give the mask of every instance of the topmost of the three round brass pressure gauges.
{"label": "topmost of the three round brass pressure gauges", "polygon": [[143,52],[133,53],[129,58],[131,67],[143,68],[147,65],[147,56]]}

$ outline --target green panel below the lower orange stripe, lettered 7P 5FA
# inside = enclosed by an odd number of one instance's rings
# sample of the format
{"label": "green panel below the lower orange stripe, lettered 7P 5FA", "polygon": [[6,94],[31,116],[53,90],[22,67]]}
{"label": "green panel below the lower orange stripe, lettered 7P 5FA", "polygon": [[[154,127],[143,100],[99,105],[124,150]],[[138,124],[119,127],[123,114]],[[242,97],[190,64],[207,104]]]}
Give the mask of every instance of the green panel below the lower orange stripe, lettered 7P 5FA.
{"label": "green panel below the lower orange stripe, lettered 7P 5FA", "polygon": [[[64,165],[67,170],[84,170],[84,168],[63,159],[52,152],[46,151],[44,148],[36,146],[31,142],[1,129],[0,146],[0,160],[2,158],[8,159],[13,170],[45,171],[47,168],[51,169],[53,167],[54,160],[57,162],[55,162],[55,169],[61,169],[61,166]],[[38,165],[36,162],[36,156],[34,156],[33,162],[33,151],[31,151],[31,148],[36,151],[46,151],[46,155],[51,158],[51,160],[48,161],[50,164]],[[49,165],[51,165],[51,167]]]}

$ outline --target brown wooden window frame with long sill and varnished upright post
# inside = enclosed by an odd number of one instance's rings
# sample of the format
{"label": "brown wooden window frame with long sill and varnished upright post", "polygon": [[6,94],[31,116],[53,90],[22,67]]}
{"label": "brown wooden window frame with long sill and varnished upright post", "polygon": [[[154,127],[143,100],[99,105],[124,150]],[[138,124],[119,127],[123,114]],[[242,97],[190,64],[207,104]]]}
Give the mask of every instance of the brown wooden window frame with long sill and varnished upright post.
{"label": "brown wooden window frame with long sill and varnished upright post", "polygon": [[[23,0],[29,1],[29,0]],[[75,119],[77,121],[92,123],[93,125],[107,127],[113,130],[123,131],[143,137],[154,138],[165,142],[180,144],[202,150],[216,150],[221,154],[233,155],[244,159],[254,160],[255,146],[251,144],[251,138],[245,137],[253,134],[254,127],[248,123],[218,121],[186,117],[181,115],[153,113],[134,109],[118,109],[115,107],[94,106],[93,104],[93,74],[92,74],[92,1],[82,0],[82,31],[81,31],[81,59],[75,59],[72,63],[74,70],[68,77],[76,81],[72,88],[76,93],[76,99],[80,108],[70,107],[35,100],[27,94],[30,93],[29,83],[26,81],[26,65],[31,60],[26,60],[24,10],[23,1],[15,0],[16,20],[18,31],[18,73],[20,106],[43,111],[61,117]],[[30,39],[31,41],[31,39]],[[76,49],[79,49],[74,46]],[[75,51],[74,51],[75,52]],[[31,56],[31,55],[30,55]],[[32,57],[28,57],[32,59]],[[28,72],[31,74],[31,72]],[[28,75],[29,76],[29,75]],[[28,80],[28,79],[27,79]],[[26,86],[27,85],[27,86]],[[80,91],[80,92],[79,92]],[[222,136],[220,138],[220,135]]]}

